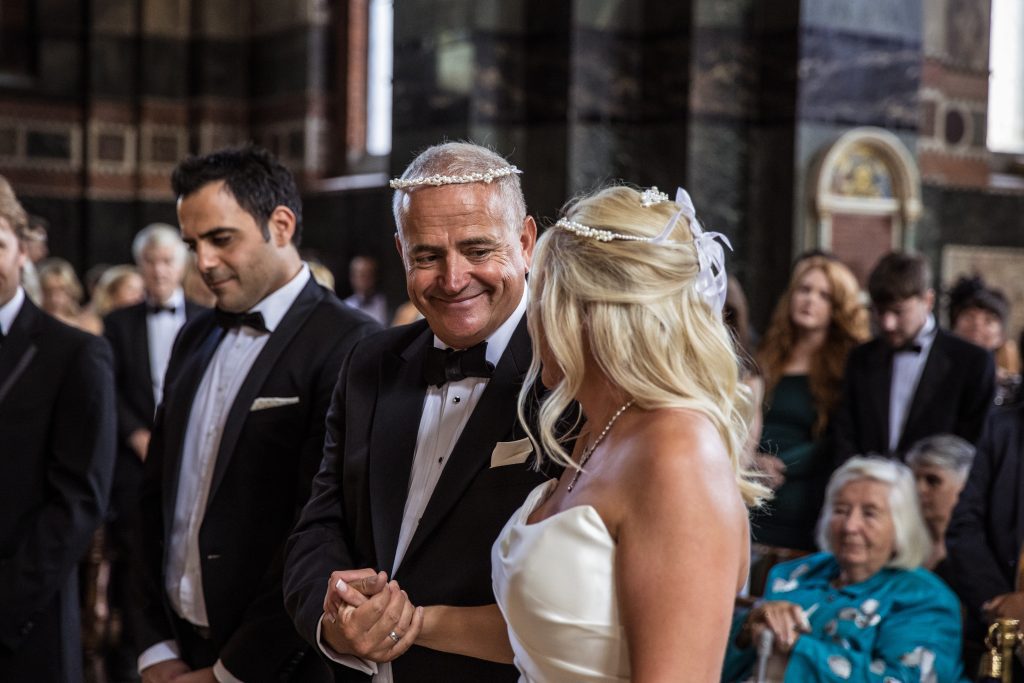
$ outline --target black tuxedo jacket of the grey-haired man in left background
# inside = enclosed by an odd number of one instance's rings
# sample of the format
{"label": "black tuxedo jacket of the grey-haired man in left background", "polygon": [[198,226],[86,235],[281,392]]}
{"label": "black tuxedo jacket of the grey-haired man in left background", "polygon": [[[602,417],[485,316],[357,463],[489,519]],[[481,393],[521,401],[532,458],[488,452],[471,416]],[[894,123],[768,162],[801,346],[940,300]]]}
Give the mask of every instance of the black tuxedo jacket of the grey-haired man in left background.
{"label": "black tuxedo jacket of the grey-haired man in left background", "polygon": [[[204,310],[185,301],[185,322]],[[150,370],[150,334],[145,325],[146,304],[115,310],[103,318],[103,336],[114,350],[114,377],[118,392],[118,442],[134,455],[128,437],[138,429],[153,429],[157,407],[153,402]]]}

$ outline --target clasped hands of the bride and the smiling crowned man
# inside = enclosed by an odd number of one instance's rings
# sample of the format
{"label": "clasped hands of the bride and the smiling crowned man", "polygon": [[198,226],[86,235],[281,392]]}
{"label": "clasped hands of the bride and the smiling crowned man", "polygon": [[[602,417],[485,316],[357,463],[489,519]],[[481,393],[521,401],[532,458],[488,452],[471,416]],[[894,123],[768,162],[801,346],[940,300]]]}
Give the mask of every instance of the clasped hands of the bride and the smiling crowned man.
{"label": "clasped hands of the bride and the smiling crowned man", "polygon": [[334,571],[324,596],[321,637],[339,654],[390,661],[412,647],[423,628],[398,582],[374,569]]}

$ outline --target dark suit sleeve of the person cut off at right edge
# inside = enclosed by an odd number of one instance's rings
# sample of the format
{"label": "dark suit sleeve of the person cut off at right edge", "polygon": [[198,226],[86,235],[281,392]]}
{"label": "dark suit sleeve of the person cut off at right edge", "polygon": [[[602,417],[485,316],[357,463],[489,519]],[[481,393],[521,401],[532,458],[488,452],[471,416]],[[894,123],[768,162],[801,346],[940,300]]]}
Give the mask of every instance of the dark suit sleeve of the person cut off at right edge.
{"label": "dark suit sleeve of the person cut off at right edge", "polygon": [[[1017,419],[1015,411],[1013,419]],[[1000,425],[998,414],[989,420],[978,442],[977,455],[959,500],[946,529],[946,548],[954,588],[959,594],[969,620],[982,618],[981,605],[996,595],[1014,590],[1009,572],[1000,569],[1000,561],[989,538],[992,507],[1011,506],[1015,501],[997,495],[998,479],[1007,458],[1016,459],[1019,432]],[[1014,481],[1010,487],[1016,492]],[[1018,493],[1019,496],[1019,493]],[[1007,528],[1013,535],[1015,529]]]}

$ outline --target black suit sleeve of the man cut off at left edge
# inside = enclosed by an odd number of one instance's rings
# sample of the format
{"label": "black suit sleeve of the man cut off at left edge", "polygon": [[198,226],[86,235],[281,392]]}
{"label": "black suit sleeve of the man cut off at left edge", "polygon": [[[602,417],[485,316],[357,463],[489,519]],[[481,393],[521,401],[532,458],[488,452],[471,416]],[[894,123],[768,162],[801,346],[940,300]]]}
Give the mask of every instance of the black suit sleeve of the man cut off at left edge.
{"label": "black suit sleeve of the man cut off at left edge", "polygon": [[72,352],[67,373],[54,380],[60,387],[48,429],[49,496],[26,516],[16,549],[0,561],[0,641],[9,647],[67,584],[110,498],[116,447],[111,348],[90,336]]}

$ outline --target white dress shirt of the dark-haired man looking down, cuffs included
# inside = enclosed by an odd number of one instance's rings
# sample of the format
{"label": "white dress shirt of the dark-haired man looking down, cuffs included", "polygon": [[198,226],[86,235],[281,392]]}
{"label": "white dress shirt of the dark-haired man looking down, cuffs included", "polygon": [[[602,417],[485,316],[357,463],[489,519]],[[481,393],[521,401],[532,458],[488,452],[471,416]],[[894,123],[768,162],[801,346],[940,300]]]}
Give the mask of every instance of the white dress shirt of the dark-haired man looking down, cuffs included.
{"label": "white dress shirt of the dark-haired man looking down, cuffs included", "polygon": [[[272,333],[309,278],[309,268],[303,263],[302,269],[287,285],[250,311],[262,313],[266,329]],[[270,338],[269,333],[257,332],[249,327],[226,332],[203,375],[188,414],[178,470],[178,495],[164,568],[164,589],[175,613],[200,627],[208,627],[210,623],[203,595],[199,532],[206,513],[220,437],[239,389]],[[179,657],[180,649],[174,641],[157,643],[139,655],[138,670],[141,672],[146,667]],[[221,683],[238,682],[219,659],[214,665],[213,673]]]}

